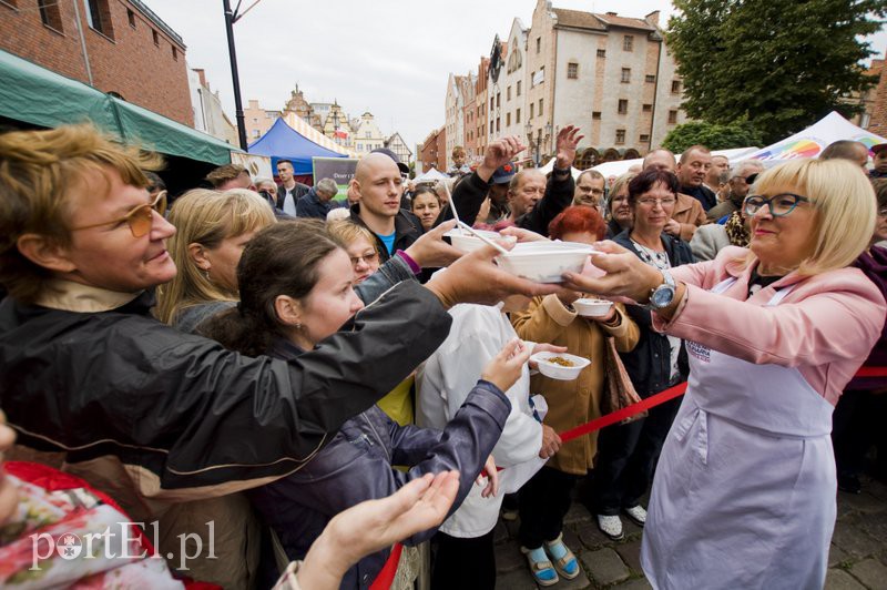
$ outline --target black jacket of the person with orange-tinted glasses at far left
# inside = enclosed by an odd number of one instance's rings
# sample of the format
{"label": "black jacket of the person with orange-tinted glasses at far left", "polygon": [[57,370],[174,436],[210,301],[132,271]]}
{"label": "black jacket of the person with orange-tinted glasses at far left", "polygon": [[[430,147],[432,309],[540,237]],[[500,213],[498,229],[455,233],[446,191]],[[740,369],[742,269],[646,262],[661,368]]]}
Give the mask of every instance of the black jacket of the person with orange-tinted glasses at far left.
{"label": "black jacket of the person with orange-tinted glasses at far left", "polygon": [[299,468],[425,360],[451,323],[408,281],[284,362],[183,334],[154,319],[152,305],[149,293],[101,313],[4,299],[0,408],[20,444],[69,450],[72,462],[116,456],[141,474],[144,495],[179,499]]}

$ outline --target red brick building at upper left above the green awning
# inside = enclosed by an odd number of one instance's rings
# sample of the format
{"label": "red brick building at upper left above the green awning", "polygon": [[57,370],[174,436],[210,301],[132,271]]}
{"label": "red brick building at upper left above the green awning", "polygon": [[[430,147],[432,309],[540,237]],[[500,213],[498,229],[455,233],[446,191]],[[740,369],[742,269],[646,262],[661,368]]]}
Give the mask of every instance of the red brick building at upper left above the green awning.
{"label": "red brick building at upper left above the green awning", "polygon": [[139,0],[0,0],[0,49],[194,124],[185,44]]}

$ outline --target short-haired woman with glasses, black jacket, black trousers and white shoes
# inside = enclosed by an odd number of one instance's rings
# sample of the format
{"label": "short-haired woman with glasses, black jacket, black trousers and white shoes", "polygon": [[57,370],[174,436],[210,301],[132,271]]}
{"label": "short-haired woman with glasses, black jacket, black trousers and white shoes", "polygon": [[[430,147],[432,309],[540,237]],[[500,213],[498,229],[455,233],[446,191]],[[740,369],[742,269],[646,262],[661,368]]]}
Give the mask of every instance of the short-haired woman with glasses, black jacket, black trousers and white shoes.
{"label": "short-haired woman with glasses, black jacket, black trousers and white shoes", "polygon": [[[677,201],[677,177],[669,171],[651,169],[638,174],[629,183],[633,226],[613,238],[664,272],[694,262],[686,242],[663,232]],[[629,305],[625,311],[641,333],[634,349],[620,354],[638,395],[646,398],[684,380],[689,368],[683,343],[654,332],[649,309]],[[604,535],[624,537],[620,511],[639,526],[644,525],[646,510],[640,503],[641,497],[650,486],[679,406],[680,399],[673,399],[652,408],[646,418],[601,430],[591,503]]]}

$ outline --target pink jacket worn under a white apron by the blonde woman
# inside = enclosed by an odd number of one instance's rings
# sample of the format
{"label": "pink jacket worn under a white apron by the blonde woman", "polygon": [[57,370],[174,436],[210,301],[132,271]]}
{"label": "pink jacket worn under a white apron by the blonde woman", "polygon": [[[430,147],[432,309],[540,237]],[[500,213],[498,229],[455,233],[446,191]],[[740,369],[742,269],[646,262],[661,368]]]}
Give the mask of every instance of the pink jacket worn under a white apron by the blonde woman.
{"label": "pink jacket worn under a white apron by the blonde woman", "polygon": [[[653,327],[755,364],[797,367],[832,405],[863,365],[884,327],[887,304],[858,268],[815,276],[792,273],[747,298],[752,268],[743,269],[747,250],[730,246],[714,261],[672,269],[687,285],[687,298],[672,321],[653,314]],[[716,295],[708,289],[737,278]],[[774,293],[795,285],[774,307]]]}

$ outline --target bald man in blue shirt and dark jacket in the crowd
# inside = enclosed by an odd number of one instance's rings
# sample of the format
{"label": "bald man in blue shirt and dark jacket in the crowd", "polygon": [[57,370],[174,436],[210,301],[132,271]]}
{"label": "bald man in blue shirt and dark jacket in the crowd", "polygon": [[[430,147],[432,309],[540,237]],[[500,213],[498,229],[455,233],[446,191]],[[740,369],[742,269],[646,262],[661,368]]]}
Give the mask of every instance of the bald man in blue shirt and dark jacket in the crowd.
{"label": "bald man in blue shirt and dark jacket in the crowd", "polygon": [[422,224],[400,208],[404,180],[390,156],[370,153],[357,163],[351,190],[358,202],[351,205],[351,221],[369,228],[385,262],[398,250],[407,250],[422,235]]}

